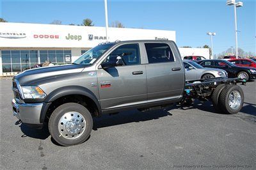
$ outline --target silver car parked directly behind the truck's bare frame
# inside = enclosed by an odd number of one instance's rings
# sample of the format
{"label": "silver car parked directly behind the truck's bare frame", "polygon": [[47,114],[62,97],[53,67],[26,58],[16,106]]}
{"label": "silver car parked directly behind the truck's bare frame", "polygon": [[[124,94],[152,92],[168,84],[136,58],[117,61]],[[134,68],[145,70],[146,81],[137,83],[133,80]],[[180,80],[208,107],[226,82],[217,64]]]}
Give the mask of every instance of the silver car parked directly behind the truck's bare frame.
{"label": "silver car parked directly behind the truck's bare frame", "polygon": [[183,60],[186,81],[197,79],[211,79],[214,77],[227,77],[227,72],[218,68],[205,68],[194,61]]}

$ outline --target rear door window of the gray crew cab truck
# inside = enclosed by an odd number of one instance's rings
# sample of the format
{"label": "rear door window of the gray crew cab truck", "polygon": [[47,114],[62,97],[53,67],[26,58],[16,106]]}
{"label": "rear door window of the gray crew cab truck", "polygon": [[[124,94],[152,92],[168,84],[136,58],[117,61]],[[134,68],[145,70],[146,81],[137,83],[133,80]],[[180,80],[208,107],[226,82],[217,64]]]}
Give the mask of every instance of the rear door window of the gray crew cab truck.
{"label": "rear door window of the gray crew cab truck", "polygon": [[172,50],[166,43],[145,43],[148,63],[164,63],[174,61]]}

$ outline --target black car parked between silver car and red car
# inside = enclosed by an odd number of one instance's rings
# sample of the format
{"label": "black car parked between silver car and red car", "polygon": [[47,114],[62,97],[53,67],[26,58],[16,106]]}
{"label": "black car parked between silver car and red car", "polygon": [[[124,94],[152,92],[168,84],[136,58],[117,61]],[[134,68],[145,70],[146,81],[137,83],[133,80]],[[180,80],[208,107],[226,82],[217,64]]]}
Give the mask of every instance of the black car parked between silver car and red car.
{"label": "black car parked between silver car and red car", "polygon": [[205,59],[197,62],[198,65],[209,68],[220,68],[228,73],[228,78],[241,77],[246,81],[256,79],[256,69],[252,67],[236,66],[223,59]]}

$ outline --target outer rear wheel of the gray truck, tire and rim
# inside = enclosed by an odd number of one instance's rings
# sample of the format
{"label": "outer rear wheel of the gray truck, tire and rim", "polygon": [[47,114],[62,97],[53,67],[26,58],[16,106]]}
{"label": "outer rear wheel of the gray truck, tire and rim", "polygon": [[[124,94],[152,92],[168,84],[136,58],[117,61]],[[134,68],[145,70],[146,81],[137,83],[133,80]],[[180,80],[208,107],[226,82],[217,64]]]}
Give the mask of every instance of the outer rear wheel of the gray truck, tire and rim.
{"label": "outer rear wheel of the gray truck, tire and rim", "polygon": [[220,93],[219,104],[224,114],[236,114],[242,109],[243,103],[243,89],[237,85],[228,84]]}

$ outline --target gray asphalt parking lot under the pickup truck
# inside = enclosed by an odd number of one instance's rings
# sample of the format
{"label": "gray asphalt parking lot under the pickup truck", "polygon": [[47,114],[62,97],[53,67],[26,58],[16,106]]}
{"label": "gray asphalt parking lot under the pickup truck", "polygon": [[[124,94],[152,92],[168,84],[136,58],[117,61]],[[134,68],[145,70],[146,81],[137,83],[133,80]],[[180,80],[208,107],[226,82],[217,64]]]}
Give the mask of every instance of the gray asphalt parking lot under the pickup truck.
{"label": "gray asphalt parking lot under the pickup truck", "polygon": [[256,81],[244,106],[218,114],[210,102],[166,111],[120,112],[93,120],[90,139],[54,143],[49,132],[14,125],[12,81],[1,79],[0,169],[256,169]]}

